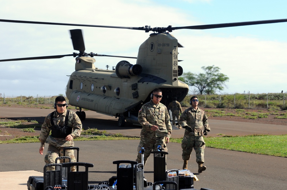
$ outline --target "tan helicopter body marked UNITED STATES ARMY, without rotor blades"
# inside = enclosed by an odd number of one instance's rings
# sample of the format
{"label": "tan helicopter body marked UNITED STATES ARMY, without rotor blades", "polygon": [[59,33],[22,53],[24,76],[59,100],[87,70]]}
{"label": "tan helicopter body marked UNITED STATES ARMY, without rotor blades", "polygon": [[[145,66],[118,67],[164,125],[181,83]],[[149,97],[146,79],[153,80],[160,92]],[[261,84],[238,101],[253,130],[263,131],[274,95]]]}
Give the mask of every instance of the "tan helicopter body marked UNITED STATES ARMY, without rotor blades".
{"label": "tan helicopter body marked UNITED STATES ARMY, without rotor blades", "polygon": [[121,61],[115,70],[94,66],[94,58],[77,57],[69,77],[66,96],[69,104],[111,116],[124,116],[138,123],[142,104],[150,101],[155,88],[162,90],[161,102],[182,101],[188,86],[178,80],[178,42],[169,33],[152,34],[141,44],[135,65]]}

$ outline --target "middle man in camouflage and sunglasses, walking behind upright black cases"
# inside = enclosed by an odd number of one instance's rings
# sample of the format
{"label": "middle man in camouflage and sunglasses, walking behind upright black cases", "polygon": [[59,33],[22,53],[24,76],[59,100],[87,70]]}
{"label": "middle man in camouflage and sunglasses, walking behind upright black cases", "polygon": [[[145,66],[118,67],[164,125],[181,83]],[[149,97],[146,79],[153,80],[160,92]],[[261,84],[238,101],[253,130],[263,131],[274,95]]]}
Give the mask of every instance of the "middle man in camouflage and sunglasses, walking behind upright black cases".
{"label": "middle man in camouflage and sunglasses, walking behind upright black cases", "polygon": [[141,163],[141,153],[139,152],[144,147],[144,165],[146,165],[152,150],[157,151],[158,145],[167,152],[166,143],[169,142],[172,132],[168,110],[164,104],[160,103],[162,91],[159,88],[154,89],[151,98],[150,102],[141,107],[138,115],[142,129],[136,161]]}

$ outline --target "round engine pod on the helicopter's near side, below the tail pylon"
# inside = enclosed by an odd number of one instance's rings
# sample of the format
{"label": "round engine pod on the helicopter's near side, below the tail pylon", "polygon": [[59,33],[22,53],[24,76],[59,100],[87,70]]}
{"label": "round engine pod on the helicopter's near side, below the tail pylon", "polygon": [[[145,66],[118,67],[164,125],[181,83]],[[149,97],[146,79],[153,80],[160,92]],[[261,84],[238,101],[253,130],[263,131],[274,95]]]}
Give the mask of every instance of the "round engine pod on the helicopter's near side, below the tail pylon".
{"label": "round engine pod on the helicopter's near side, below the tail pylon", "polygon": [[130,78],[129,76],[140,75],[143,69],[138,64],[133,65],[127,61],[120,61],[115,71],[119,78]]}

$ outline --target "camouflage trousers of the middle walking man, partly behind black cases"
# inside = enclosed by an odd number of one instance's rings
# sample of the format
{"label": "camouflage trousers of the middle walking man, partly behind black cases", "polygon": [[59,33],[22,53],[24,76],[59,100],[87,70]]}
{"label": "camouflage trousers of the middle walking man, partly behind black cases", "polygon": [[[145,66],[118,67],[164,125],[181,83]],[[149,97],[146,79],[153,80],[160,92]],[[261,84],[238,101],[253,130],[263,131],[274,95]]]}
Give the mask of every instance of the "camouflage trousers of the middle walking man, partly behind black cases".
{"label": "camouflage trousers of the middle walking man, partly behind black cases", "polygon": [[144,165],[146,165],[146,161],[150,156],[152,151],[158,151],[158,145],[163,147],[163,151],[167,152],[167,147],[165,144],[165,136],[155,137],[155,136],[141,136],[141,141],[139,142],[139,146],[137,147],[137,163],[141,163],[141,148],[144,147]]}

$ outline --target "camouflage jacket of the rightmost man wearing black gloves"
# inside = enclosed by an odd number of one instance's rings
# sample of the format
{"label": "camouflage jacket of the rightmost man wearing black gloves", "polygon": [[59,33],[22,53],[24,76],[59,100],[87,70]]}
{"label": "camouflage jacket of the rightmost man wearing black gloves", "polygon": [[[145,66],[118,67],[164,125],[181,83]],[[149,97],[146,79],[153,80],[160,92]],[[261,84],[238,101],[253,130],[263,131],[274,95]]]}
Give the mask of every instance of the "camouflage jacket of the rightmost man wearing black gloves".
{"label": "camouflage jacket of the rightmost man wearing black gloves", "polygon": [[[179,124],[188,130],[193,136],[202,136],[203,129],[210,131],[207,116],[205,112],[199,108],[195,110],[193,107],[186,109],[179,119]],[[185,130],[185,131],[186,131]]]}

